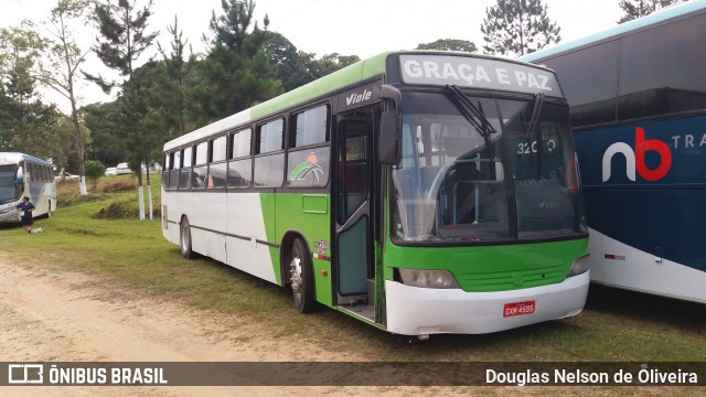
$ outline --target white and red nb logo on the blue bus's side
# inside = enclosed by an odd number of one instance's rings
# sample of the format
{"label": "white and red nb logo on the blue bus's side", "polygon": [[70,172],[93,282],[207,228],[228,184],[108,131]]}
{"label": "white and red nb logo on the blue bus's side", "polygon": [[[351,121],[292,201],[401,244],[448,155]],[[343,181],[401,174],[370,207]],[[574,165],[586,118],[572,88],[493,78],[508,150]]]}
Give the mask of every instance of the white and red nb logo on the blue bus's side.
{"label": "white and red nb logo on the blue bus's side", "polygon": [[[648,151],[655,151],[660,154],[660,165],[652,170],[644,162],[644,154]],[[646,181],[659,181],[664,178],[670,168],[672,168],[672,152],[670,147],[659,139],[645,139],[644,130],[641,127],[635,128],[635,150],[624,142],[616,142],[608,147],[603,153],[602,180],[608,182],[610,179],[610,165],[616,153],[625,157],[625,174],[631,181],[635,181],[635,171]]]}

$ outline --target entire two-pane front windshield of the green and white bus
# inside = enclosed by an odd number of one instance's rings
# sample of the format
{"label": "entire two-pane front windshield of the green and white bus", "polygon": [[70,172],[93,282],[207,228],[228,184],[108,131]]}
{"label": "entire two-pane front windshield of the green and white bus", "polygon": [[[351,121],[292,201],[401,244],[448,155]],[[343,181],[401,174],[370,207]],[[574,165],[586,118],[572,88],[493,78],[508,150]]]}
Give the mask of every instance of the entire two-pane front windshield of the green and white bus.
{"label": "entire two-pane front windshield of the green and white bus", "polygon": [[458,99],[405,93],[403,155],[393,170],[395,240],[585,236],[567,106],[536,97]]}

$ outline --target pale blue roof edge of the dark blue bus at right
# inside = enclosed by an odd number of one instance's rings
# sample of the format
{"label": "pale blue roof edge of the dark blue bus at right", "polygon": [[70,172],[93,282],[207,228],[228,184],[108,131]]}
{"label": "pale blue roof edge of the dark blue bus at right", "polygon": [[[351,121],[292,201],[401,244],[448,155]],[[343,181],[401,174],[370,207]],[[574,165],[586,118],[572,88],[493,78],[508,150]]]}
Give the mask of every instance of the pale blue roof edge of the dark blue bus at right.
{"label": "pale blue roof edge of the dark blue bus at right", "polygon": [[579,50],[581,47],[593,45],[596,43],[617,39],[625,34],[659,24],[661,22],[695,13],[703,9],[706,9],[706,0],[693,0],[685,3],[675,4],[673,7],[661,9],[660,11],[653,12],[649,15],[621,23],[617,26],[587,35],[581,39],[523,55],[520,57],[520,60],[524,62],[541,62],[541,60],[546,60],[561,53]]}

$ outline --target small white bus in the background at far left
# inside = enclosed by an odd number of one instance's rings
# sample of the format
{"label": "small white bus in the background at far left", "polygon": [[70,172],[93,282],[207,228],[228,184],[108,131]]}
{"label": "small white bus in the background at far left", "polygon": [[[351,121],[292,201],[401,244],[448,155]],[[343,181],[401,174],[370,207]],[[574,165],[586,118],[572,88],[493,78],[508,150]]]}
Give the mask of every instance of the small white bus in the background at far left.
{"label": "small white bus in the background at far left", "polygon": [[22,196],[34,204],[34,217],[51,216],[56,210],[54,165],[35,157],[0,152],[0,223],[19,223],[15,206]]}

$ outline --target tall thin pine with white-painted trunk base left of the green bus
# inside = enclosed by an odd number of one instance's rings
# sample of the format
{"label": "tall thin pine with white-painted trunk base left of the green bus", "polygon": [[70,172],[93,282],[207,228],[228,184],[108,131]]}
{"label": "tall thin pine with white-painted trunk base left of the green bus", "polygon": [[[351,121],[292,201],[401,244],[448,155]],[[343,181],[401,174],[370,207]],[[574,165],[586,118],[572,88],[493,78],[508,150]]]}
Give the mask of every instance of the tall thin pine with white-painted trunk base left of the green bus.
{"label": "tall thin pine with white-painted trunk base left of the green bus", "polygon": [[[135,78],[135,63],[140,55],[149,49],[158,33],[147,32],[147,22],[152,15],[152,0],[147,0],[147,6],[137,8],[137,0],[104,0],[96,3],[95,18],[98,23],[100,35],[96,39],[95,52],[98,58],[108,67],[117,71],[122,81],[117,83],[108,81],[101,75],[90,75],[86,77],[98,84],[104,92],[109,93],[114,87],[118,87],[121,93],[121,107],[125,114],[125,127],[130,153],[130,163],[137,164],[133,171],[138,175],[138,196],[140,207],[140,219],[145,219],[145,194],[142,189],[141,162],[147,162],[149,153],[146,139],[147,131],[141,125],[143,116],[147,114],[147,104],[141,97],[141,89],[146,82]],[[150,176],[147,174],[148,195],[151,203]],[[152,213],[150,211],[150,218]]]}

